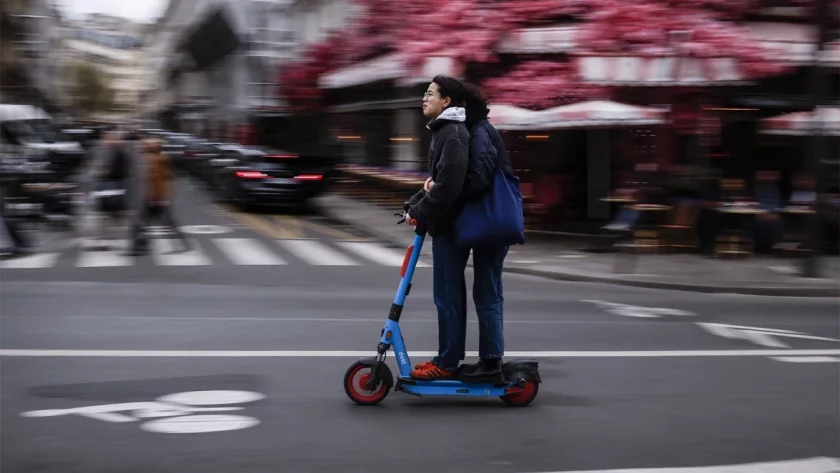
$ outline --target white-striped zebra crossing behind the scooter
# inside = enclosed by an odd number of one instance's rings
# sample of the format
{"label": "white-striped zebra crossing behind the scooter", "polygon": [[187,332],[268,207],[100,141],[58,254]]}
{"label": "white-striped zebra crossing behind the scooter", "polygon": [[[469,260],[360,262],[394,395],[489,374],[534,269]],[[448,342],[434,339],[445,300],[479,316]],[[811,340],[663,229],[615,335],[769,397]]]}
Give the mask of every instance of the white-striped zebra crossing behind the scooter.
{"label": "white-striped zebra crossing behind the scooter", "polygon": [[[162,267],[211,265],[399,267],[405,256],[404,251],[372,241],[206,238],[191,239],[191,246],[186,251],[179,251],[179,243],[171,238],[152,238],[149,244],[148,255],[134,257],[126,254],[129,249],[129,240],[80,240],[63,250],[0,261],[0,270],[48,269],[60,265],[70,265],[79,270],[127,268],[148,264],[145,261],[151,261],[153,265]],[[430,266],[422,260],[417,264],[417,267]]]}

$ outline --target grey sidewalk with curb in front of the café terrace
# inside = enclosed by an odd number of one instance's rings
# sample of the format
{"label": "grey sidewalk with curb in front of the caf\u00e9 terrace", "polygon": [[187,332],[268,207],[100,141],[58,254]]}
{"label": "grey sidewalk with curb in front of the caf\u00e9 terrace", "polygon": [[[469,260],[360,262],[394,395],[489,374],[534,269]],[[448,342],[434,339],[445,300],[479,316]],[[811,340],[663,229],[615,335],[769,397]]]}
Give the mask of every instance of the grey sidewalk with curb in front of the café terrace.
{"label": "grey sidewalk with curb in front of the caf\u00e9 terrace", "polygon": [[[411,227],[396,225],[399,218],[393,215],[402,209],[387,209],[338,194],[319,197],[314,204],[327,217],[355,225],[395,247],[402,249],[411,242]],[[840,296],[840,258],[836,256],[821,259],[821,279],[807,279],[797,274],[799,262],[792,259],[756,257],[732,261],[682,254],[634,258],[582,251],[590,245],[590,240],[547,241],[528,235],[525,245],[511,248],[505,271],[563,281],[706,293]],[[431,245],[424,245],[422,254],[430,256]]]}

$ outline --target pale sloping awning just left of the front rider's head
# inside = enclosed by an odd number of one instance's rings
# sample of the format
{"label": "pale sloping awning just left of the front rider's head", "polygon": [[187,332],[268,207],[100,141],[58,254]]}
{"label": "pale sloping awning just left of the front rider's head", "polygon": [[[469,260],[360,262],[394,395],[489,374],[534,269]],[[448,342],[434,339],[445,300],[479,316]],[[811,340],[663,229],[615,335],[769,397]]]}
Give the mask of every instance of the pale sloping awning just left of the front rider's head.
{"label": "pale sloping awning just left of the front rider's head", "polygon": [[422,70],[413,74],[405,67],[401,53],[390,53],[325,74],[318,84],[325,89],[342,89],[383,80],[418,84],[432,80],[438,74],[458,76],[455,61],[450,57],[429,57]]}

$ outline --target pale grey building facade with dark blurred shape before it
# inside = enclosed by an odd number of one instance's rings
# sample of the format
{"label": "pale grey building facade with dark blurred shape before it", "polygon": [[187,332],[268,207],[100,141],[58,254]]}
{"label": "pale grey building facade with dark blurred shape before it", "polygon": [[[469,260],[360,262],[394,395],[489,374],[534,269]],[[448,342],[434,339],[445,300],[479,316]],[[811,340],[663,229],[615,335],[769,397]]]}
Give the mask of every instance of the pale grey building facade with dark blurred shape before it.
{"label": "pale grey building facade with dark blurred shape before it", "polygon": [[172,0],[150,38],[155,87],[143,112],[167,128],[236,139],[243,124],[287,115],[284,66],[340,28],[350,0]]}

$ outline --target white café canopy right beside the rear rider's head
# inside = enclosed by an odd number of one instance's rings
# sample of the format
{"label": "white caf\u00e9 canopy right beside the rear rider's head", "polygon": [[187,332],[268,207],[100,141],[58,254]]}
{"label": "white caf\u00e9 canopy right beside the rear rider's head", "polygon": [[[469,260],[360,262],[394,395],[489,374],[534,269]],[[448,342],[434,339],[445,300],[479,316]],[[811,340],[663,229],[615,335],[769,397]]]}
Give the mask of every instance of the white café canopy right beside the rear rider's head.
{"label": "white caf\u00e9 canopy right beside the rear rider's head", "polygon": [[490,122],[500,130],[559,130],[659,125],[668,111],[609,100],[594,100],[533,111],[512,105],[490,107]]}

